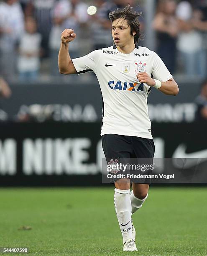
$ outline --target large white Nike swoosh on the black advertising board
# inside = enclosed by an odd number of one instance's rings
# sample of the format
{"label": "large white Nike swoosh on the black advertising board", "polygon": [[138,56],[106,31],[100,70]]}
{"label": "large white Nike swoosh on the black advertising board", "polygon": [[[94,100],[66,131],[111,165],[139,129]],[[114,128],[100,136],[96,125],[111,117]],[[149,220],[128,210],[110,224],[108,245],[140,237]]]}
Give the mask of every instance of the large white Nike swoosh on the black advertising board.
{"label": "large white Nike swoosh on the black advertising board", "polygon": [[[176,168],[188,169],[204,161],[207,161],[207,149],[193,153],[186,153],[186,148],[186,145],[180,144],[174,151],[174,154],[172,155],[172,161]],[[182,163],[181,161],[177,161],[177,159],[182,159]]]}

